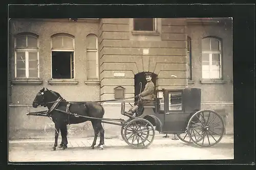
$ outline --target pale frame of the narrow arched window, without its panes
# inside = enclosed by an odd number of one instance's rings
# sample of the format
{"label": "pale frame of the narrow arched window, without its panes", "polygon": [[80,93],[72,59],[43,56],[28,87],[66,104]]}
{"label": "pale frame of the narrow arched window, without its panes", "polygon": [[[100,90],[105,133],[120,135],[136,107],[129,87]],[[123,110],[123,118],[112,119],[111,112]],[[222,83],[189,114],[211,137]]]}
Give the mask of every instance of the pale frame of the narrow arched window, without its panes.
{"label": "pale frame of the narrow arched window, without its panes", "polygon": [[[99,44],[98,44],[98,37],[95,34],[88,34],[88,36],[94,36],[96,38],[96,49],[90,49],[86,47],[86,55],[87,55],[87,80],[88,81],[98,81],[99,80]],[[87,39],[88,42],[88,39]],[[89,77],[89,65],[88,65],[88,52],[96,52],[96,77]]]}

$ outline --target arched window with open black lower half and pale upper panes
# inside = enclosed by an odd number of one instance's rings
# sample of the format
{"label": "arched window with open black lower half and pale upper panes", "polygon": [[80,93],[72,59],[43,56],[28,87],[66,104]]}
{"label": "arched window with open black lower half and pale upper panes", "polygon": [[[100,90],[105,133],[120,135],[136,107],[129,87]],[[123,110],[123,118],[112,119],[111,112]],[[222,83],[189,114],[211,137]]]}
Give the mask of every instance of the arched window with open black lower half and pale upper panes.
{"label": "arched window with open black lower half and pale upper panes", "polygon": [[74,79],[74,37],[66,34],[52,36],[52,78]]}

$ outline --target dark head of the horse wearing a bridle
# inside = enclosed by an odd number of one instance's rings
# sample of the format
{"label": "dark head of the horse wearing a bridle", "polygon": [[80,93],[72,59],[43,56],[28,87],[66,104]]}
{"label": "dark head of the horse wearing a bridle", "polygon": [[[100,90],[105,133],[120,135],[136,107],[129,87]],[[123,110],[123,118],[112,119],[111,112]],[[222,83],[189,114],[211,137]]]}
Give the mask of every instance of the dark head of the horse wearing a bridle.
{"label": "dark head of the horse wearing a bridle", "polygon": [[32,106],[33,108],[37,108],[39,105],[46,107],[48,103],[56,101],[59,97],[59,93],[44,87],[36,94]]}

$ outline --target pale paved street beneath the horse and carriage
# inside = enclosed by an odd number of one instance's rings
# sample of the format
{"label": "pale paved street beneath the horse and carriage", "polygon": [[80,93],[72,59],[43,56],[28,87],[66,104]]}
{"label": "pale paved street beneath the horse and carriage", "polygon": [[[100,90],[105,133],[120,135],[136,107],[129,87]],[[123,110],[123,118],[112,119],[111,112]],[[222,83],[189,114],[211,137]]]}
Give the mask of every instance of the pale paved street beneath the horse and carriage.
{"label": "pale paved street beneath the horse and carriage", "polygon": [[[223,139],[212,148],[198,148],[181,140],[156,136],[147,149],[132,149],[120,138],[105,139],[104,150],[90,149],[93,138],[69,138],[67,150],[51,151],[53,139],[10,140],[9,161],[143,161],[233,159],[233,137]],[[97,144],[99,138],[97,140]],[[58,140],[60,143],[60,139]],[[96,145],[97,145],[96,144]]]}

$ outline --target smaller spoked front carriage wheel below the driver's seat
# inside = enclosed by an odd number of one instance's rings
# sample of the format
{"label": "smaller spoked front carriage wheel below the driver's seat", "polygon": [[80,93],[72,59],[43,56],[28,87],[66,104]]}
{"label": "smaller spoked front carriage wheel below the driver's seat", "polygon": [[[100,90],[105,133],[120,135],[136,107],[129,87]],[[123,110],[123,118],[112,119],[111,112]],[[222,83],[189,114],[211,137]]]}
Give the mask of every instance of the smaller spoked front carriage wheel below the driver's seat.
{"label": "smaller spoked front carriage wheel below the driver's seat", "polygon": [[153,125],[144,118],[131,120],[124,128],[125,142],[135,149],[147,148],[155,138]]}

